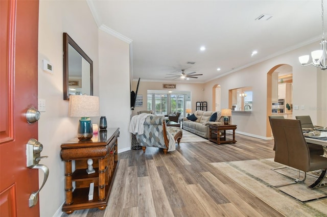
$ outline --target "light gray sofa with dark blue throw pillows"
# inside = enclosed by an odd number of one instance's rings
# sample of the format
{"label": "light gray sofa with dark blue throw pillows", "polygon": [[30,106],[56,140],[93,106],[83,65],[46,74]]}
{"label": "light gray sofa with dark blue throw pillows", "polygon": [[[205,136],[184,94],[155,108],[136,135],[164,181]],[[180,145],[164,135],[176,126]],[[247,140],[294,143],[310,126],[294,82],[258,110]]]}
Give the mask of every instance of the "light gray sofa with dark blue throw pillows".
{"label": "light gray sofa with dark blue throw pillows", "polygon": [[212,111],[196,111],[194,115],[197,117],[197,120],[191,121],[188,118],[183,118],[183,129],[207,139],[209,136],[209,124],[224,125],[221,112],[217,112],[215,121],[209,121],[214,113]]}

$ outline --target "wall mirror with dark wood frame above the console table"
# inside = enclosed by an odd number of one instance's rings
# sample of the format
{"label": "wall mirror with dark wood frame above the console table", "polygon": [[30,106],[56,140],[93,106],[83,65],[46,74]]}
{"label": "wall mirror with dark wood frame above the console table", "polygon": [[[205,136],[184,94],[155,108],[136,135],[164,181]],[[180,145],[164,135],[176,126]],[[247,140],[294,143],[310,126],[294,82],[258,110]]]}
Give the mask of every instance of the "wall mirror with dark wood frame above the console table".
{"label": "wall mirror with dark wood frame above the console table", "polygon": [[63,99],[82,94],[93,95],[93,61],[63,33]]}

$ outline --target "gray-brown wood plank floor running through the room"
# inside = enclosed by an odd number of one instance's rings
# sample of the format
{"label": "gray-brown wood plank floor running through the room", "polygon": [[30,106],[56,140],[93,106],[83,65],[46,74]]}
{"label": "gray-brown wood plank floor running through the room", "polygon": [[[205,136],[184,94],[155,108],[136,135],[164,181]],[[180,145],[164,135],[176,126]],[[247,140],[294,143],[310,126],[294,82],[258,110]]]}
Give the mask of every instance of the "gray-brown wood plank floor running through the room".
{"label": "gray-brown wood plank floor running through the room", "polygon": [[167,155],[152,147],[120,153],[107,208],[70,216],[283,216],[209,164],[274,157],[272,140],[236,139],[181,143]]}

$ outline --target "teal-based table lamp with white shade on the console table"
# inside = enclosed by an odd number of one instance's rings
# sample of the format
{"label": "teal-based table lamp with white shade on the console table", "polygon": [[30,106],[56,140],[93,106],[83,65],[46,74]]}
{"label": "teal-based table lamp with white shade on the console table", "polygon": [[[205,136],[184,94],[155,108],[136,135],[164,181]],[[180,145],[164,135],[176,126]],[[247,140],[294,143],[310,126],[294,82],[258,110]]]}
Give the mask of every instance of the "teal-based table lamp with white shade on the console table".
{"label": "teal-based table lamp with white shade on the console table", "polygon": [[90,140],[93,137],[90,117],[100,116],[98,96],[71,95],[69,96],[69,117],[81,117],[78,123],[77,138]]}

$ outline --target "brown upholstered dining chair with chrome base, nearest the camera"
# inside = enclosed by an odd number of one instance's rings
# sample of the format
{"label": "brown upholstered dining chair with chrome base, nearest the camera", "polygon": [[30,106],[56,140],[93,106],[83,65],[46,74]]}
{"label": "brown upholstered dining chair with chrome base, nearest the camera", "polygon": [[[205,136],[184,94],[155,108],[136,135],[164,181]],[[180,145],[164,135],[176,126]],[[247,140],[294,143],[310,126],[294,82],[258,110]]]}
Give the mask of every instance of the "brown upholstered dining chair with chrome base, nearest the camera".
{"label": "brown upholstered dining chair with chrome base, nearest the camera", "polygon": [[[317,181],[308,187],[313,189],[324,186],[321,182],[326,175],[327,158],[309,151],[300,121],[273,118],[269,121],[276,145],[274,161],[299,170],[299,177],[294,183],[303,182],[309,171],[322,170]],[[300,180],[300,171],[304,172],[302,180]]]}

